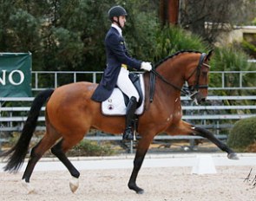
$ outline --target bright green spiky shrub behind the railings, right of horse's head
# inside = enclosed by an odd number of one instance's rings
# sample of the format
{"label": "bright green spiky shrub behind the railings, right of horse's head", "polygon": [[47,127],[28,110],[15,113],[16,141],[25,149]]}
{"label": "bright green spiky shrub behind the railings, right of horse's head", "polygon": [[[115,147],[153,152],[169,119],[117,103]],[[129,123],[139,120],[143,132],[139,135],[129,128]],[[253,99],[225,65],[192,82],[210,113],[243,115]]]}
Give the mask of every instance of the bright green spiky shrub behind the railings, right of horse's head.
{"label": "bright green spiky shrub behind the railings, right of horse's head", "polygon": [[[211,60],[211,71],[253,71],[254,67],[252,63],[247,62],[249,56],[245,52],[238,49],[235,45],[228,47],[221,47],[214,49],[214,55]],[[223,77],[222,77],[223,76]],[[240,90],[234,88],[240,88],[240,74],[228,73],[225,75],[211,74],[210,73],[210,87],[221,88],[222,79],[224,79],[224,85],[226,88],[233,88],[231,90],[213,90],[214,95],[253,95],[255,90]],[[253,87],[256,84],[255,75],[242,74],[242,86]],[[252,104],[251,100],[244,100],[243,102],[237,100],[225,100],[226,105],[239,104]]]}

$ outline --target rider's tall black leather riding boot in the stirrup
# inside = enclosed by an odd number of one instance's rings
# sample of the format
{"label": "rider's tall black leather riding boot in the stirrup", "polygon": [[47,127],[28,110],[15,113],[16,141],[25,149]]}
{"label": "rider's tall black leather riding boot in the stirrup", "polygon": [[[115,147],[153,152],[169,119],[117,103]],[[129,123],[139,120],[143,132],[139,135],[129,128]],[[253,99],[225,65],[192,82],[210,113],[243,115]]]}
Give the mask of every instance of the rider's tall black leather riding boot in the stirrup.
{"label": "rider's tall black leather riding boot in the stirrup", "polygon": [[132,96],[128,102],[128,107],[126,110],[126,126],[125,126],[124,133],[122,135],[122,140],[134,139],[134,133],[132,131],[132,121],[134,120],[136,108],[137,108],[137,101],[135,96]]}

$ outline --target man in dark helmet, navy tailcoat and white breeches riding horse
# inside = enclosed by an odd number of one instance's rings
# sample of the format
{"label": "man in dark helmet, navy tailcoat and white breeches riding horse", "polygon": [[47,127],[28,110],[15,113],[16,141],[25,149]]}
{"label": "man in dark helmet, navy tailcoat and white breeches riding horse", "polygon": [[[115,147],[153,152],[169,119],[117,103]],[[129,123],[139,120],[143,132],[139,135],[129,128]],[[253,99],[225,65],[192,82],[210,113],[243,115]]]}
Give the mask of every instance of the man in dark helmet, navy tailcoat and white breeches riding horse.
{"label": "man in dark helmet, navy tailcoat and white breeches riding horse", "polygon": [[150,62],[141,62],[128,55],[125,42],[122,37],[122,28],[126,23],[127,12],[121,6],[114,6],[108,10],[108,17],[111,20],[111,28],[105,37],[105,49],[107,54],[107,68],[104,70],[102,80],[92,95],[92,100],[104,101],[112,94],[115,86],[121,89],[129,98],[126,112],[126,127],[122,139],[132,140],[132,120],[135,115],[139,94],[128,78],[128,66],[137,70],[152,69]]}

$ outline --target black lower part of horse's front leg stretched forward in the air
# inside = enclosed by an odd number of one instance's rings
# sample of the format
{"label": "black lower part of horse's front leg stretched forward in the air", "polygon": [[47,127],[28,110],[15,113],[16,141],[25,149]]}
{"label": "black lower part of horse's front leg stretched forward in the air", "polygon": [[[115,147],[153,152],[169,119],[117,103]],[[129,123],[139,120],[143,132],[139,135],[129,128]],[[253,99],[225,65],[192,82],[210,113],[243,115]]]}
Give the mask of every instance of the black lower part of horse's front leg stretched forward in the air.
{"label": "black lower part of horse's front leg stretched forward in the air", "polygon": [[200,135],[201,137],[207,138],[212,141],[216,146],[218,146],[222,151],[227,152],[228,159],[239,159],[237,154],[233,152],[228,146],[222,143],[219,139],[217,139],[213,133],[209,132],[207,129],[203,127],[194,126],[194,133],[196,135]]}

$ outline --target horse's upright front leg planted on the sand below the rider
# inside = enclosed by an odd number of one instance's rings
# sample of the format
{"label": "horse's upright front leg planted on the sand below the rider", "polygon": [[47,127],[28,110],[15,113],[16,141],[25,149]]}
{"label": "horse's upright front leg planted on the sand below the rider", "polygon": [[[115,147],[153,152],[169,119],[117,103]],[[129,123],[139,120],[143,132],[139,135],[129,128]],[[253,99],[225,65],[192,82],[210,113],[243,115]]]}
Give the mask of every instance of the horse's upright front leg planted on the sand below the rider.
{"label": "horse's upright front leg planted on the sand below the rider", "polygon": [[145,155],[148,152],[148,147],[153,138],[154,137],[151,138],[148,136],[142,137],[139,141],[137,151],[135,154],[134,169],[133,169],[133,172],[132,172],[131,177],[128,182],[128,188],[130,190],[134,190],[138,194],[142,194],[144,192],[144,190],[141,189],[140,187],[138,187],[138,185],[136,185],[136,179],[137,179],[138,173],[141,169],[141,165],[143,163]]}

